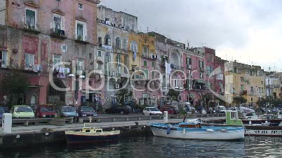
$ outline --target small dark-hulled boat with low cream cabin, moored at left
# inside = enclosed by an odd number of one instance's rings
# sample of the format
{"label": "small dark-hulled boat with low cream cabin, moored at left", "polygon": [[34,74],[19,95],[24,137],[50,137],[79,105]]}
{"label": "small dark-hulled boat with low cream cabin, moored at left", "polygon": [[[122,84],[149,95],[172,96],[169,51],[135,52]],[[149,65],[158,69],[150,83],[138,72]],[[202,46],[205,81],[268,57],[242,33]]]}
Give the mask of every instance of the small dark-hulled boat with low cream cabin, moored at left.
{"label": "small dark-hulled boat with low cream cabin, moored at left", "polygon": [[83,127],[80,131],[65,131],[67,144],[74,143],[103,143],[117,141],[120,131],[103,131],[99,128]]}

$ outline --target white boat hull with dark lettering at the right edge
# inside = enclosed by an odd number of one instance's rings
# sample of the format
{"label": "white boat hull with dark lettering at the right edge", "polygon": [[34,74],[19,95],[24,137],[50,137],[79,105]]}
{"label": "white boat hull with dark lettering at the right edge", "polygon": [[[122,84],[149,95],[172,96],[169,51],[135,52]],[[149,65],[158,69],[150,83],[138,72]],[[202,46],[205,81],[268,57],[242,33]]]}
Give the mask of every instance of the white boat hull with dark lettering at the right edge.
{"label": "white boat hull with dark lettering at the right edge", "polygon": [[246,126],[245,128],[245,136],[282,137],[282,127]]}

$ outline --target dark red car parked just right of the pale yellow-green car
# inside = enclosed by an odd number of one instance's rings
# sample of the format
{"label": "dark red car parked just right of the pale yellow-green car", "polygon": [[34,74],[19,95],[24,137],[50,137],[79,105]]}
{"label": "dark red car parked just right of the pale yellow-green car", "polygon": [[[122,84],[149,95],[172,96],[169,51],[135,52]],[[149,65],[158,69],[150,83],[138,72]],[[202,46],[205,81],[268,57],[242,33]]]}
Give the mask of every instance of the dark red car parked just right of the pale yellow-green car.
{"label": "dark red car parked just right of the pale yellow-green car", "polygon": [[58,114],[55,112],[55,106],[38,106],[36,109],[36,117],[52,118],[57,116]]}

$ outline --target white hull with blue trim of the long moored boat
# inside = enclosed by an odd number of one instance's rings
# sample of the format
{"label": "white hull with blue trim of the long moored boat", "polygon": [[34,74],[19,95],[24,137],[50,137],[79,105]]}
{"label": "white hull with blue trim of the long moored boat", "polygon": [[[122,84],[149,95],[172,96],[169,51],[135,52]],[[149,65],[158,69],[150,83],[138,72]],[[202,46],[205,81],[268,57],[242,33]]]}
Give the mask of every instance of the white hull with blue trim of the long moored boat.
{"label": "white hull with blue trim of the long moored boat", "polygon": [[205,127],[201,129],[172,127],[168,130],[168,127],[157,127],[151,125],[151,129],[154,136],[161,136],[166,138],[201,139],[217,141],[241,140],[244,138],[243,127],[231,127],[229,129],[219,127]]}

